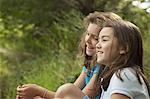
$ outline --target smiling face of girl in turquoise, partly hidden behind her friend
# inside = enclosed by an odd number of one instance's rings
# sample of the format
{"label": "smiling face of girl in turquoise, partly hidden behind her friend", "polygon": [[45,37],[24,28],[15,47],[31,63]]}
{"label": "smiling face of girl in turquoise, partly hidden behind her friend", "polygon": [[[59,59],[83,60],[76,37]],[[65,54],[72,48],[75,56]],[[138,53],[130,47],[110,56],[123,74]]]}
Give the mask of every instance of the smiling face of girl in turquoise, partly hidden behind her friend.
{"label": "smiling face of girl in turquoise, partly hidden behind her friend", "polygon": [[100,27],[94,23],[90,23],[85,36],[86,54],[92,56],[96,53],[96,44],[98,42],[98,35]]}

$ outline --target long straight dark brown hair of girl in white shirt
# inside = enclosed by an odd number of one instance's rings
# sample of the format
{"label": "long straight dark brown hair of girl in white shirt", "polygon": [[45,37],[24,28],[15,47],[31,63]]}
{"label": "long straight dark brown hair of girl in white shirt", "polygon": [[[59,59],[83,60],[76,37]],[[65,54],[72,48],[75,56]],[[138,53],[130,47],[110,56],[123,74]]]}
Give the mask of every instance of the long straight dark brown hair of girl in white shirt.
{"label": "long straight dark brown hair of girl in white shirt", "polygon": [[[109,20],[104,24],[104,27],[111,27],[113,29],[114,36],[117,38],[119,46],[123,47],[126,53],[118,56],[109,66],[109,70],[102,71],[102,73],[99,74],[95,85],[95,88],[97,88],[96,91],[101,93],[101,86],[103,86],[104,90],[107,90],[110,79],[114,73],[123,81],[120,74],[121,70],[130,67],[135,71],[140,84],[142,84],[140,77],[143,78],[150,94],[150,86],[148,80],[144,76],[143,42],[139,28],[131,22],[123,20]],[[103,81],[101,81],[102,78]]]}

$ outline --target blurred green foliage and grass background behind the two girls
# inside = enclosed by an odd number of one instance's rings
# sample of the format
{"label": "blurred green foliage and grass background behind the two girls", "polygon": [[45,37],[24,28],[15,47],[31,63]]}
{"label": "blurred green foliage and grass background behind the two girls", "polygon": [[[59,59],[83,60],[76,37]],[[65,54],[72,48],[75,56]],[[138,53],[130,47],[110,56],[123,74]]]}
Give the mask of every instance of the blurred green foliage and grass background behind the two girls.
{"label": "blurred green foliage and grass background behind the two girls", "polygon": [[0,0],[0,99],[15,99],[20,84],[55,91],[73,82],[83,18],[94,11],[115,12],[141,29],[150,76],[149,0]]}

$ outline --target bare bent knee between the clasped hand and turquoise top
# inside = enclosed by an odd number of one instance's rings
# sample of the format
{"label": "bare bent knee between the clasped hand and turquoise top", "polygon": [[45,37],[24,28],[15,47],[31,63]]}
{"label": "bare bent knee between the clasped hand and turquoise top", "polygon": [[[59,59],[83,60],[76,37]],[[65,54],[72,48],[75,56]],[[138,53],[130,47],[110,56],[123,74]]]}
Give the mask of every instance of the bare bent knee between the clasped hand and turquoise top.
{"label": "bare bent knee between the clasped hand and turquoise top", "polygon": [[73,88],[74,88],[74,84],[71,83],[64,84],[57,89],[55,97],[64,98],[67,94],[71,92]]}

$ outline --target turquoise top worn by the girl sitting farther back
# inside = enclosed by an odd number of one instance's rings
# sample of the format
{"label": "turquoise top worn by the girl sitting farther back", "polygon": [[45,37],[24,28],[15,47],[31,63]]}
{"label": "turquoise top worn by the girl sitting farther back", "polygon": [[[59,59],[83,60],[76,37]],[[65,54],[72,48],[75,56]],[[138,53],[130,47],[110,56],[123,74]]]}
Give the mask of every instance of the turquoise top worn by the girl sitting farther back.
{"label": "turquoise top worn by the girl sitting farther back", "polygon": [[[90,79],[92,78],[93,74],[98,74],[100,70],[100,65],[96,64],[91,68],[91,70],[88,70],[84,66],[82,70],[86,73],[86,77],[85,77],[85,86],[86,86],[90,82]],[[99,99],[99,96],[97,96],[96,99]]]}

